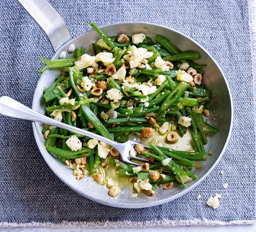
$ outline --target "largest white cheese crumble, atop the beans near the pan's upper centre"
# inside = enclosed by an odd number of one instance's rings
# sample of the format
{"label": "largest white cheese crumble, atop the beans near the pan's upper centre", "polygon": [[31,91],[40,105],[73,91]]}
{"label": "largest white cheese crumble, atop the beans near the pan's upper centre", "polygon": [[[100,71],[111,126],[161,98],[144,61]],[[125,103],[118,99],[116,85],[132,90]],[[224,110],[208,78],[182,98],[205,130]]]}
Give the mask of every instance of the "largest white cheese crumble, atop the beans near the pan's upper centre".
{"label": "largest white cheese crumble, atop the beans near the pan's upper centre", "polygon": [[128,55],[125,55],[123,58],[129,62],[130,68],[136,68],[140,63],[146,64],[148,62],[146,59],[152,55],[153,52],[132,45],[131,51],[128,51]]}

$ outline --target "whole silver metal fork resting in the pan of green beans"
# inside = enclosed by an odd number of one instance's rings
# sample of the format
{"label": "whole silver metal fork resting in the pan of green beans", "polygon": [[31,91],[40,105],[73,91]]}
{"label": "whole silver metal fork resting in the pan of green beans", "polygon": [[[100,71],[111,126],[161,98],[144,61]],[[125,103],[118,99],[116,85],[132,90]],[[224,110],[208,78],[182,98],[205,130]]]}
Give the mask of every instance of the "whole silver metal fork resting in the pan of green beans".
{"label": "whole silver metal fork resting in the pan of green beans", "polygon": [[[99,141],[103,141],[103,142],[109,144],[111,147],[115,147],[117,149],[117,151],[120,153],[122,161],[126,162],[128,164],[140,166],[141,164],[138,164],[134,161],[141,161],[144,163],[149,162],[148,159],[146,159],[146,158],[141,158],[141,157],[137,157],[137,156],[134,157],[134,156],[130,155],[130,152],[132,150],[134,150],[134,146],[136,144],[140,144],[138,142],[131,141],[131,140],[128,140],[125,143],[115,142],[115,141],[107,139],[103,136],[94,134],[90,131],[82,130],[82,129],[74,127],[74,126],[70,126],[68,124],[58,122],[54,119],[51,119],[47,116],[37,113],[36,111],[24,106],[20,102],[17,102],[8,96],[0,97],[0,113],[3,115],[6,115],[6,116],[12,117],[12,118],[26,119],[26,120],[30,120],[30,121],[34,121],[34,122],[40,122],[43,124],[56,126],[56,127],[63,128],[66,130],[71,130],[78,134],[89,136],[89,137],[97,139]],[[143,147],[145,147],[146,149],[151,149],[150,147],[148,147],[144,144],[141,144],[141,145]],[[132,161],[132,160],[134,160],[134,161]]]}

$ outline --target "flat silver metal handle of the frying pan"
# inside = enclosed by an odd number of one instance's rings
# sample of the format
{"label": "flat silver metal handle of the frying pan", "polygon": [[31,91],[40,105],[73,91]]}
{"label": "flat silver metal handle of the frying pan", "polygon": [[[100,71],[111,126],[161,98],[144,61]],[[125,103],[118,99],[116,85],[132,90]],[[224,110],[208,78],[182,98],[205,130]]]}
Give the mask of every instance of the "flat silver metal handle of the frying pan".
{"label": "flat silver metal handle of the frying pan", "polygon": [[67,25],[47,0],[18,1],[43,29],[55,52],[71,39]]}

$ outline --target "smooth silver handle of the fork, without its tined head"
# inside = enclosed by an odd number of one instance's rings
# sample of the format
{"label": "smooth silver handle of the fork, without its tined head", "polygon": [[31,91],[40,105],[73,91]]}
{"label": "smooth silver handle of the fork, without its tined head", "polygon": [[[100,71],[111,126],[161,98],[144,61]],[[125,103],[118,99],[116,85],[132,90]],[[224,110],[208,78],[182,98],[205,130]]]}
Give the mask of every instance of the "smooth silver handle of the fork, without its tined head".
{"label": "smooth silver handle of the fork, without its tined head", "polygon": [[12,117],[12,118],[40,122],[43,124],[57,126],[59,128],[63,128],[66,130],[71,130],[78,134],[81,134],[84,136],[89,136],[89,137],[91,137],[93,139],[97,139],[99,141],[103,141],[103,142],[111,145],[112,147],[116,147],[118,145],[117,142],[107,139],[103,136],[94,134],[87,130],[82,130],[82,129],[74,127],[74,126],[70,126],[68,124],[64,124],[62,122],[58,122],[54,119],[51,119],[47,116],[37,113],[36,111],[24,106],[20,102],[17,102],[8,96],[0,97],[0,113],[3,115],[6,115],[6,116]]}

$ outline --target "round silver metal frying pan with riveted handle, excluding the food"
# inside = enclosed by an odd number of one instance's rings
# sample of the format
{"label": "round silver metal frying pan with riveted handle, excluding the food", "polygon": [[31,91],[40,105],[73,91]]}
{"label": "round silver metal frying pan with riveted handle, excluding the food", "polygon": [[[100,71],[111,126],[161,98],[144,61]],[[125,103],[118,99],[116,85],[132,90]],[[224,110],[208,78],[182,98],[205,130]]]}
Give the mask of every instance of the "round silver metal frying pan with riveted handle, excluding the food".
{"label": "round silver metal frying pan with riveted handle, excluding the food", "polygon": [[[52,49],[55,51],[52,59],[71,56],[70,53],[74,51],[76,46],[86,47],[88,54],[93,53],[91,45],[93,42],[100,39],[99,34],[94,30],[90,30],[85,34],[72,39],[63,19],[52,8],[47,0],[18,1],[46,33],[52,45]],[[40,152],[52,171],[68,187],[82,196],[101,204],[121,208],[145,208],[179,198],[196,187],[207,175],[209,175],[227,147],[233,124],[232,97],[227,80],[213,57],[211,57],[197,42],[178,31],[157,24],[140,22],[115,23],[103,26],[101,29],[108,36],[144,33],[146,36],[154,39],[156,34],[160,34],[170,40],[178,49],[180,49],[180,51],[189,50],[198,51],[200,53],[201,59],[198,63],[203,61],[207,64],[207,67],[204,70],[204,84],[211,90],[211,96],[214,96],[209,101],[209,109],[211,112],[209,123],[218,124],[218,128],[220,129],[218,133],[210,137],[209,143],[205,146],[206,152],[209,153],[211,151],[213,156],[208,157],[207,160],[202,163],[202,168],[200,170],[193,170],[193,173],[198,176],[198,179],[186,183],[187,187],[185,189],[180,185],[174,186],[170,190],[158,188],[154,197],[139,194],[138,198],[134,199],[129,196],[132,192],[131,186],[124,186],[122,181],[119,182],[122,191],[115,198],[108,195],[108,189],[105,186],[97,184],[90,177],[77,181],[72,175],[72,170],[47,152],[44,146],[44,138],[41,133],[41,125],[33,123],[35,140]],[[39,68],[41,67],[38,67],[38,69]],[[35,111],[42,114],[45,113],[46,104],[43,100],[43,89],[52,85],[59,74],[59,70],[46,70],[41,75],[33,98],[32,108]],[[213,120],[213,118],[215,120]],[[217,184],[217,180],[215,181]]]}

